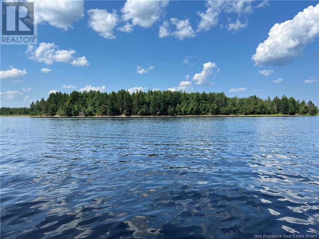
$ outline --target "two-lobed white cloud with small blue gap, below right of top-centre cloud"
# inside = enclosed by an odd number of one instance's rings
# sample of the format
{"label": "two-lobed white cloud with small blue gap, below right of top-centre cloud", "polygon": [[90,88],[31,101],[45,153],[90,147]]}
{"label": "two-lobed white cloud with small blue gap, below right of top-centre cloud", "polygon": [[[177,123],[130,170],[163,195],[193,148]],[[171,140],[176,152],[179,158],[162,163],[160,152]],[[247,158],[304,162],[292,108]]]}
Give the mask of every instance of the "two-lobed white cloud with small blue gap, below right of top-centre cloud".
{"label": "two-lobed white cloud with small blue gap, below right of top-centre cloud", "polygon": [[180,20],[178,18],[171,18],[171,24],[175,25],[176,30],[170,32],[169,23],[167,21],[163,22],[163,25],[159,27],[159,37],[174,36],[179,40],[184,40],[184,38],[196,37],[196,33],[190,26],[189,19]]}

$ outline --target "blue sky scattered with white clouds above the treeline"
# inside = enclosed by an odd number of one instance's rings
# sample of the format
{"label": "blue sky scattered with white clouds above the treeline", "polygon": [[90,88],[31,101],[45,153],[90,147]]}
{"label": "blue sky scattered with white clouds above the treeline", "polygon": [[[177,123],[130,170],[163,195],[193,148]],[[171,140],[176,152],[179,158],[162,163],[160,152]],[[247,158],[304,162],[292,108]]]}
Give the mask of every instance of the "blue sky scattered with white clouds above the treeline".
{"label": "blue sky scattered with white clouds above the treeline", "polygon": [[50,92],[171,90],[319,103],[318,1],[41,1],[1,45],[1,106]]}

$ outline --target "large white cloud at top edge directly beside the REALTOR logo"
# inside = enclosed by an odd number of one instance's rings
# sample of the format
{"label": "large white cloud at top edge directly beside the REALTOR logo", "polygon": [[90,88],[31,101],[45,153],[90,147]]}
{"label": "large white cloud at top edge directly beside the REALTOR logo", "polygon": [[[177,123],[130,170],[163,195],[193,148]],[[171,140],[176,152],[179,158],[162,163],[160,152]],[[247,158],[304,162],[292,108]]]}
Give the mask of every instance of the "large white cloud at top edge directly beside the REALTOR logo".
{"label": "large white cloud at top edge directly beside the REALTOR logo", "polygon": [[36,23],[48,23],[52,26],[68,30],[72,24],[84,17],[84,1],[36,1]]}

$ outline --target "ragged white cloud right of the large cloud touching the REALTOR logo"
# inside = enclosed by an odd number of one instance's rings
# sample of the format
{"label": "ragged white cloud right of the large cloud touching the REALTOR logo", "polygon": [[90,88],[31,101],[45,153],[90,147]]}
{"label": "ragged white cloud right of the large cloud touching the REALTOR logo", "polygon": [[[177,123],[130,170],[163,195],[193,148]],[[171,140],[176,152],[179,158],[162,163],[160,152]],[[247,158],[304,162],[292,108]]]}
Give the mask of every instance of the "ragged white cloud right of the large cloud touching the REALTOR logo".
{"label": "ragged white cloud right of the large cloud touching the REALTOR logo", "polygon": [[109,13],[106,9],[91,9],[87,11],[89,14],[89,26],[100,36],[106,39],[115,39],[113,29],[117,25],[119,19],[115,10]]}

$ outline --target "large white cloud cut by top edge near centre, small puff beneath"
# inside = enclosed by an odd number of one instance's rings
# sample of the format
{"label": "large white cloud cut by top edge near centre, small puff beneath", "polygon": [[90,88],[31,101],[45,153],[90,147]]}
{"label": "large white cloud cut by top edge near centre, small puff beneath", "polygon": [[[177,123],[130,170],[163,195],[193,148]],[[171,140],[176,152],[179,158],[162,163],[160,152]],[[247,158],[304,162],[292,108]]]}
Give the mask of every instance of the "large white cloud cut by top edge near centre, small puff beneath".
{"label": "large white cloud cut by top edge near centre, small puff beneath", "polygon": [[[160,19],[165,10],[168,1],[133,1],[128,0],[122,8],[122,19],[132,21],[132,27],[139,25],[142,27],[151,27]],[[124,28],[125,29],[125,28]],[[130,29],[127,27],[126,29]],[[130,31],[132,31],[130,29]],[[130,32],[129,31],[129,32]]]}

